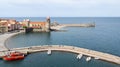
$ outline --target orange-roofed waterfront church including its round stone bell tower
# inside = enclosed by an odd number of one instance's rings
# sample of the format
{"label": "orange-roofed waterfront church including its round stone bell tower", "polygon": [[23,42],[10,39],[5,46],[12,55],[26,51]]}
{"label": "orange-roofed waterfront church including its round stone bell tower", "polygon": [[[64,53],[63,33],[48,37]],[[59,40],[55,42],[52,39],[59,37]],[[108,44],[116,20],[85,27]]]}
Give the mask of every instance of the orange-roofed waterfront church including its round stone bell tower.
{"label": "orange-roofed waterfront church including its round stone bell tower", "polygon": [[33,31],[50,31],[50,17],[46,18],[46,21],[30,21],[29,19],[23,20],[22,22],[23,27],[26,28],[33,28]]}

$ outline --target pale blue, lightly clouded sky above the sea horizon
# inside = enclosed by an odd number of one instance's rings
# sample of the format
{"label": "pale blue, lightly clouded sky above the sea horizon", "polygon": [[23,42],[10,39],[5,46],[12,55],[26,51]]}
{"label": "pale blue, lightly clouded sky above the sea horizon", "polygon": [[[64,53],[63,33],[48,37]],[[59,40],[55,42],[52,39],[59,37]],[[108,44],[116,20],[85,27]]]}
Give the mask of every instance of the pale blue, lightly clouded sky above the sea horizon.
{"label": "pale blue, lightly clouded sky above the sea horizon", "polygon": [[120,17],[120,0],[0,0],[0,17]]}

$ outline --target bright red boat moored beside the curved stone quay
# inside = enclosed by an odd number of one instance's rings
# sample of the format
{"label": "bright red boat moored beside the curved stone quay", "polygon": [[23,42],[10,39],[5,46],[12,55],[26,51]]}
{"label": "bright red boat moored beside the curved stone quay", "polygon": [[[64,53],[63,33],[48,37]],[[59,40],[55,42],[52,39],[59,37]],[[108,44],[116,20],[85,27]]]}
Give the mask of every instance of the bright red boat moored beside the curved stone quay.
{"label": "bright red boat moored beside the curved stone quay", "polygon": [[24,59],[24,54],[19,52],[13,52],[3,57],[3,60],[5,61],[14,61],[14,60],[22,60],[22,59]]}

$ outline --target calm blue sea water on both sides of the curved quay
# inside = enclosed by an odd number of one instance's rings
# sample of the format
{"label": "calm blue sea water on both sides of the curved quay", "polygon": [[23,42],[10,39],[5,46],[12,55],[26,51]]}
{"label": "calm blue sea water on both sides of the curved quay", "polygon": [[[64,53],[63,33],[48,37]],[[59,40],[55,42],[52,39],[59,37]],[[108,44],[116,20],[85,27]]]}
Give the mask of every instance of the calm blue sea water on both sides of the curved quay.
{"label": "calm blue sea water on both sides of the curved quay", "polygon": [[[15,18],[22,21],[22,18]],[[32,21],[45,21],[45,18],[30,17]],[[9,48],[35,45],[72,45],[92,50],[107,52],[120,56],[120,17],[56,17],[51,21],[59,23],[90,23],[95,22],[96,27],[81,28],[67,27],[67,32],[50,33],[22,33],[6,42]],[[2,67],[120,67],[120,65],[92,59],[86,62],[83,57],[76,59],[76,54],[66,52],[53,52],[48,56],[46,52],[28,55],[22,61],[5,62],[0,60]]]}

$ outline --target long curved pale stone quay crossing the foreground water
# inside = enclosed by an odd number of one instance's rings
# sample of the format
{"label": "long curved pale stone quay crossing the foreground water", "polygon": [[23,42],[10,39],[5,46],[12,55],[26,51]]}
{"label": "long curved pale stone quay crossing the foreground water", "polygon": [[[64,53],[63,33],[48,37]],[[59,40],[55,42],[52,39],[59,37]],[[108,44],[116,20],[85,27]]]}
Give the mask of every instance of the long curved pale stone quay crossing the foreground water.
{"label": "long curved pale stone quay crossing the foreground water", "polygon": [[[103,53],[99,51],[94,51],[90,49],[74,47],[74,46],[67,46],[67,45],[41,45],[41,46],[31,46],[31,47],[21,47],[21,48],[13,48],[10,49],[11,51],[19,51],[21,53],[34,53],[34,52],[43,52],[43,51],[64,51],[64,52],[72,52],[75,54],[82,54],[85,56],[89,56],[92,58],[99,58],[99,60],[105,60],[108,62],[120,64],[120,57],[111,55],[108,53]],[[4,54],[5,51],[0,52]]]}

